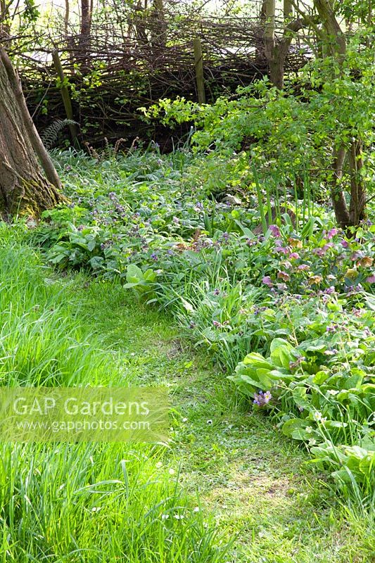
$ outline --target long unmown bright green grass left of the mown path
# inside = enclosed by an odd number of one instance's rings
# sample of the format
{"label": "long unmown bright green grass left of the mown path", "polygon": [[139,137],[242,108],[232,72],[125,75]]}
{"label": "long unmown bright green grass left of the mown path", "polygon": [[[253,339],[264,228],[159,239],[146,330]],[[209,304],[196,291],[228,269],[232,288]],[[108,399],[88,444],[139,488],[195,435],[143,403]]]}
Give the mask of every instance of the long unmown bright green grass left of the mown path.
{"label": "long unmown bright green grass left of the mown path", "polygon": [[[1,384],[127,384],[82,315],[76,292],[84,276],[62,283],[23,246],[22,232],[0,231]],[[184,494],[178,475],[158,467],[160,448],[2,443],[0,562],[226,560],[198,500]]]}

